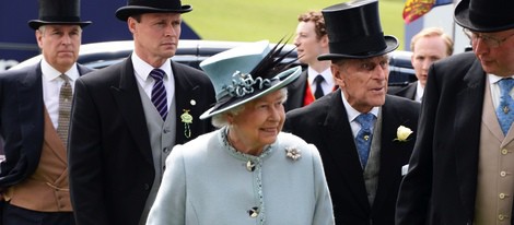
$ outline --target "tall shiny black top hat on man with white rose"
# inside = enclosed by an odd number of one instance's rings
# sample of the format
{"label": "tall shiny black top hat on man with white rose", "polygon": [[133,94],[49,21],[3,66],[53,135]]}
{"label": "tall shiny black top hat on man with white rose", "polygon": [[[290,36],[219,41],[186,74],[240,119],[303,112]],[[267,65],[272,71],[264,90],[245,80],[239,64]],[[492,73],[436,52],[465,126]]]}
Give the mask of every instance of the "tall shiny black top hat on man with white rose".
{"label": "tall shiny black top hat on man with white rose", "polygon": [[329,54],[318,60],[370,58],[398,48],[394,36],[384,36],[377,0],[359,0],[322,10],[328,33]]}

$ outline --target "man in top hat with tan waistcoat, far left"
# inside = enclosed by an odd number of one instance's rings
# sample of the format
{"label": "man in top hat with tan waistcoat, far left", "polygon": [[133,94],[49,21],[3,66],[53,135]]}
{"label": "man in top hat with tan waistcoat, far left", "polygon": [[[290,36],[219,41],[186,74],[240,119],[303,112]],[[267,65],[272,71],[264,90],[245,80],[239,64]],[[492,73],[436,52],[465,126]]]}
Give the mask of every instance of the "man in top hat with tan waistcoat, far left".
{"label": "man in top hat with tan waistcoat, far left", "polygon": [[66,146],[72,87],[91,71],[77,63],[89,24],[78,0],[40,0],[39,17],[28,25],[43,59],[0,74],[0,224],[74,224]]}

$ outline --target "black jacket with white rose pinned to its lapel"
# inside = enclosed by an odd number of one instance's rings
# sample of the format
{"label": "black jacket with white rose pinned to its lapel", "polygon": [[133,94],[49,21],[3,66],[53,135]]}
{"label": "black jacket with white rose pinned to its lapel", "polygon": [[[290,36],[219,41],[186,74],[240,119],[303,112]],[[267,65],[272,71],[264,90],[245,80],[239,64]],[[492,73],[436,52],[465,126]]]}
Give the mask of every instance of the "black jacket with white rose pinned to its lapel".
{"label": "black jacket with white rose pinned to its lapel", "polygon": [[392,225],[401,180],[401,166],[409,161],[416,138],[394,141],[399,126],[414,131],[419,103],[387,95],[382,107],[382,146],[378,188],[370,206],[363,170],[353,134],[342,104],[341,91],[332,92],[313,104],[289,111],[284,131],[313,143],[322,155],[325,175],[338,225]]}

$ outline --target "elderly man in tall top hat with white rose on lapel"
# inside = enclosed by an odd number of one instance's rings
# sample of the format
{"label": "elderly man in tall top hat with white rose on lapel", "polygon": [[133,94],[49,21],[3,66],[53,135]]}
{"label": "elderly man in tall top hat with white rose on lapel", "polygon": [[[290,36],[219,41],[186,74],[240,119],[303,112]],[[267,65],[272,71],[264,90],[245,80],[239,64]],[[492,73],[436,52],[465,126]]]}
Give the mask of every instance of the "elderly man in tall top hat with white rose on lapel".
{"label": "elderly man in tall top hat with white rose on lapel", "polygon": [[331,60],[340,90],[289,111],[284,130],[318,147],[336,224],[390,225],[420,106],[386,94],[387,54],[398,42],[382,32],[378,1],[352,1],[322,12],[330,52],[318,59]]}

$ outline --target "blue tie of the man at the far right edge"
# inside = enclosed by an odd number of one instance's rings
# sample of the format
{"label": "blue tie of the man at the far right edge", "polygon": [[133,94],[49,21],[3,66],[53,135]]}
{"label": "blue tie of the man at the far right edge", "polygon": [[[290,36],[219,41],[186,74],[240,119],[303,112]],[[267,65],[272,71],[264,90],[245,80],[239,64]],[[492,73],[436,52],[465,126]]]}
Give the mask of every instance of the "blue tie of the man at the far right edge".
{"label": "blue tie of the man at the far right edge", "polygon": [[501,94],[500,105],[497,108],[497,116],[503,134],[506,134],[514,121],[514,112],[512,111],[512,109],[514,109],[514,100],[509,94],[514,86],[514,79],[502,79],[498,82],[498,85],[500,85]]}

